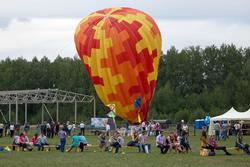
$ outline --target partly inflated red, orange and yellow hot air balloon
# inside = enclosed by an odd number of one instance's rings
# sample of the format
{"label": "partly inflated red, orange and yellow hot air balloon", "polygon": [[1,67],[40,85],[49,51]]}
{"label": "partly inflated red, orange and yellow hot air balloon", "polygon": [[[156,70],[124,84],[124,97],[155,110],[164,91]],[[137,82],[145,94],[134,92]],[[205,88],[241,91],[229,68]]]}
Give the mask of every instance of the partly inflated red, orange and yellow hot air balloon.
{"label": "partly inflated red, orange and yellow hot air balloon", "polygon": [[99,98],[115,104],[116,115],[132,124],[148,119],[161,43],[154,20],[127,7],[96,11],[75,32],[77,52]]}

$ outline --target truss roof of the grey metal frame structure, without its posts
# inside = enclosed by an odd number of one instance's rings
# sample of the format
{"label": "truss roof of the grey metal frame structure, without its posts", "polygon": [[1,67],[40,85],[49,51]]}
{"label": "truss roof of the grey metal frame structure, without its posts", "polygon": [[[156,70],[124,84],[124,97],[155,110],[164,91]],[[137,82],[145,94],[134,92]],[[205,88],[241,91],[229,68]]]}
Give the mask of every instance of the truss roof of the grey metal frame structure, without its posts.
{"label": "truss roof of the grey metal frame structure, without its posts", "polygon": [[91,103],[94,96],[59,89],[0,91],[0,104]]}

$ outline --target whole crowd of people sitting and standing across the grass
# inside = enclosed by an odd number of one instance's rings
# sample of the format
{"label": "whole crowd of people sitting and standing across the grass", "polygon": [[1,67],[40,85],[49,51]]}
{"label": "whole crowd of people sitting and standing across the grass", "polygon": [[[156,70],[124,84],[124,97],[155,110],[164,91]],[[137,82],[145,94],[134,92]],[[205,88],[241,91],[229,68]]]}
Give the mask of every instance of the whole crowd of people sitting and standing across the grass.
{"label": "whole crowd of people sitting and standing across the grass", "polygon": [[[218,126],[220,128],[218,128]],[[203,130],[200,137],[201,155],[213,156],[215,151],[222,150],[226,155],[231,155],[225,146],[220,146],[217,140],[224,139],[223,124],[215,123],[215,135],[207,135],[207,131]],[[239,122],[234,125],[236,142],[235,146],[243,150],[246,154],[250,155],[249,145],[243,142],[242,126]],[[6,130],[7,129],[7,130]],[[125,129],[125,132],[121,131]],[[130,129],[130,131],[128,131]],[[220,129],[218,133],[217,130]],[[32,151],[37,147],[38,151],[44,151],[45,147],[51,148],[48,143],[48,138],[57,136],[59,138],[58,144],[55,145],[56,149],[61,152],[70,152],[73,149],[78,149],[83,152],[84,148],[88,145],[85,137],[85,124],[80,122],[76,125],[74,122],[67,121],[66,123],[59,122],[43,122],[38,123],[36,126],[36,133],[29,140],[28,133],[30,125],[27,123],[23,126],[21,132],[20,125],[9,123],[6,125],[0,123],[0,137],[10,136],[12,138],[13,150],[17,148],[22,151]],[[21,132],[21,133],[20,133]],[[219,134],[219,135],[218,135]],[[152,146],[155,145],[161,154],[168,152],[188,153],[191,151],[189,143],[189,127],[184,120],[177,124],[176,130],[165,136],[164,131],[161,129],[159,122],[142,122],[137,126],[121,127],[111,131],[109,123],[105,123],[105,130],[100,131],[98,135],[98,145],[103,151],[118,153],[119,149],[125,144],[125,136],[129,136],[130,140],[126,144],[127,147],[136,147],[140,153],[150,153]],[[155,144],[149,142],[149,136],[155,138]],[[70,138],[71,145],[65,149],[66,143]],[[69,143],[68,141],[68,143]],[[18,146],[18,147],[17,147]]]}

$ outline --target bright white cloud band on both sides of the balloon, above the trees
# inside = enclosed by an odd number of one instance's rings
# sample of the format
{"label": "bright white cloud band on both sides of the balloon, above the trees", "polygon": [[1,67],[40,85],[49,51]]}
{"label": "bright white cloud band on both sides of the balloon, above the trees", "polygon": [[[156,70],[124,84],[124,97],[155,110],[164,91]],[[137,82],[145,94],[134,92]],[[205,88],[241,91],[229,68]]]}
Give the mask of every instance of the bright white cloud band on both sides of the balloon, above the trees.
{"label": "bright white cloud band on both sides of the balloon, above the trees", "polygon": [[[14,19],[7,29],[0,29],[0,59],[24,57],[31,60],[46,55],[54,59],[58,54],[73,57],[74,31],[80,18]],[[212,20],[156,20],[163,39],[163,51],[171,46],[178,49],[191,45],[220,46],[234,43],[250,46],[250,25]]]}

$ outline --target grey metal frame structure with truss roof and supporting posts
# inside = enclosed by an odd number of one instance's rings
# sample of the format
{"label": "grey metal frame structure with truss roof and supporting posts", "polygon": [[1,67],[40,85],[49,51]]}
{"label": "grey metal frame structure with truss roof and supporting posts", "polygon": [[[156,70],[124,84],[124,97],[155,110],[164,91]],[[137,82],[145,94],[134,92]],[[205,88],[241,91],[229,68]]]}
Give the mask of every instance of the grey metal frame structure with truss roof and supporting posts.
{"label": "grey metal frame structure with truss roof and supporting posts", "polygon": [[[27,105],[42,104],[42,122],[44,108],[51,117],[45,104],[56,104],[56,121],[59,121],[59,103],[75,104],[75,122],[77,122],[77,103],[92,103],[96,116],[96,100],[94,96],[84,95],[59,89],[13,90],[0,91],[0,104],[9,105],[9,121],[11,121],[11,105],[16,105],[16,123],[18,123],[18,105],[25,104],[25,123],[27,123]],[[51,117],[53,120],[53,118]]]}

